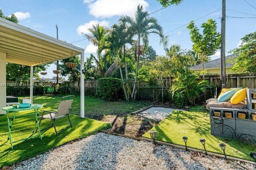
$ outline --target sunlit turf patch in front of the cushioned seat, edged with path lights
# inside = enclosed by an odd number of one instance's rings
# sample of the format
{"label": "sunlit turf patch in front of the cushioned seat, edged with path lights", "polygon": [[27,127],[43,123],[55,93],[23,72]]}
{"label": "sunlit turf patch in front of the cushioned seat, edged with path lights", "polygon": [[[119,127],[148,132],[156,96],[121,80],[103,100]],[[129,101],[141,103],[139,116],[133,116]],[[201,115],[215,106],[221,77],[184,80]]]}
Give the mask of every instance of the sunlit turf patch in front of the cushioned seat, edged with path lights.
{"label": "sunlit turf patch in front of the cushioned seat, edged with path lights", "polygon": [[[210,135],[209,115],[197,112],[197,110],[198,107],[193,108],[189,112],[173,111],[151,129],[158,132],[156,140],[185,146],[182,137],[187,136],[188,147],[204,150],[203,145],[199,141],[200,138],[204,138],[208,151],[223,154],[218,144],[224,143],[224,141],[218,141],[214,136]],[[150,138],[150,134],[147,132],[143,137]],[[235,139],[226,143],[226,146],[226,154],[228,156],[254,161],[250,157],[250,152],[252,151],[241,149],[238,141]]]}

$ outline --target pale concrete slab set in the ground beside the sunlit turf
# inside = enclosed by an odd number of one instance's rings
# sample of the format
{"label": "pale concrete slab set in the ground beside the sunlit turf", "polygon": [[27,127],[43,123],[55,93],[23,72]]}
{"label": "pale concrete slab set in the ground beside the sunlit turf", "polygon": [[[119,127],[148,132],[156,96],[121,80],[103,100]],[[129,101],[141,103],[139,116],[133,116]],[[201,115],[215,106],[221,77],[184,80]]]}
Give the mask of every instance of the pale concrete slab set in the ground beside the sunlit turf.
{"label": "pale concrete slab set in the ground beside the sunlit turf", "polygon": [[139,113],[145,119],[153,119],[155,121],[161,121],[166,118],[172,111],[182,109],[166,108],[166,107],[151,107],[145,111]]}

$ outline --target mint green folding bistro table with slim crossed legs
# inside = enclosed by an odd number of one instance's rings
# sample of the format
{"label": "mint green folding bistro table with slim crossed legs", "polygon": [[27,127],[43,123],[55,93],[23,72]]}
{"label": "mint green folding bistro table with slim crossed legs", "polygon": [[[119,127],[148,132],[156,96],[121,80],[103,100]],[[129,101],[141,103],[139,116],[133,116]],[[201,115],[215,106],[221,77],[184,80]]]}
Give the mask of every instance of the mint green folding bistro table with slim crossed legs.
{"label": "mint green folding bistro table with slim crossed legs", "polygon": [[[7,106],[7,107],[2,108],[2,110],[6,111],[6,115],[7,115],[7,123],[8,123],[8,131],[9,131],[7,141],[10,140],[10,144],[11,144],[12,149],[13,149],[12,143],[14,143],[14,142],[24,141],[24,140],[30,139],[32,137],[40,137],[40,139],[42,140],[42,136],[41,136],[41,132],[40,132],[39,124],[38,124],[38,116],[39,116],[38,110],[41,107],[43,107],[41,104],[32,104],[30,107],[26,107],[26,108],[23,108],[23,107],[22,108],[19,108],[19,107],[15,108],[15,107],[12,107],[12,106]],[[16,113],[18,113],[18,111],[28,111],[28,110],[34,110],[34,113],[22,114],[22,115],[17,115],[16,116]],[[11,119],[9,119],[9,114],[13,114]],[[32,134],[29,137],[22,138],[22,139],[19,139],[19,140],[16,140],[16,141],[12,141],[12,134],[11,134],[12,121],[14,121],[14,119],[17,118],[17,117],[28,116],[28,115],[35,115],[35,119],[36,119]],[[37,128],[37,130],[36,130],[36,128]],[[38,132],[38,135],[35,135],[37,132]],[[31,132],[28,132],[28,133],[31,133]],[[25,135],[25,134],[28,134],[28,133],[23,133],[21,135]],[[18,137],[18,136],[21,136],[21,135],[17,135],[17,136],[13,136],[13,137]]]}

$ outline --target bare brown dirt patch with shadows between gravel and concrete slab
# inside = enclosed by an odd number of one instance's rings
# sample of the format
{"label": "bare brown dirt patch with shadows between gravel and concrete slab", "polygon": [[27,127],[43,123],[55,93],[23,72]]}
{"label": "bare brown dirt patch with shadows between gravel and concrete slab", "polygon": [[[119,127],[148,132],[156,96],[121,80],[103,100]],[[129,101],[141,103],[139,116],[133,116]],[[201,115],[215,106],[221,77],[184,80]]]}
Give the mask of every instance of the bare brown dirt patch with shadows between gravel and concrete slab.
{"label": "bare brown dirt patch with shadows between gravel and concrete slab", "polygon": [[143,119],[140,115],[104,115],[94,119],[112,124],[111,131],[132,137],[142,137],[159,121]]}

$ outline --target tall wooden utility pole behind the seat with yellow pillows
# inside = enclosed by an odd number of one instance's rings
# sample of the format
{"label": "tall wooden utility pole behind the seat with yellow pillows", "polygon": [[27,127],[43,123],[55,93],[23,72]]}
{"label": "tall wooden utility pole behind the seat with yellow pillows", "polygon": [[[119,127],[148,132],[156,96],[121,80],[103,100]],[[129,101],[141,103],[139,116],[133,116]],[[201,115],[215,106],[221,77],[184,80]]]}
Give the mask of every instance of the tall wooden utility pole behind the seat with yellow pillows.
{"label": "tall wooden utility pole behind the seat with yellow pillows", "polygon": [[221,47],[220,47],[220,63],[221,63],[221,88],[226,87],[226,0],[222,0],[222,18],[221,18]]}

